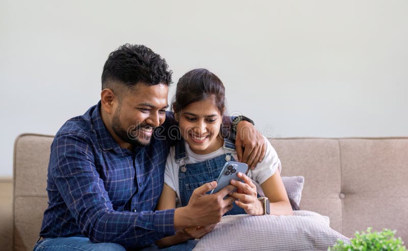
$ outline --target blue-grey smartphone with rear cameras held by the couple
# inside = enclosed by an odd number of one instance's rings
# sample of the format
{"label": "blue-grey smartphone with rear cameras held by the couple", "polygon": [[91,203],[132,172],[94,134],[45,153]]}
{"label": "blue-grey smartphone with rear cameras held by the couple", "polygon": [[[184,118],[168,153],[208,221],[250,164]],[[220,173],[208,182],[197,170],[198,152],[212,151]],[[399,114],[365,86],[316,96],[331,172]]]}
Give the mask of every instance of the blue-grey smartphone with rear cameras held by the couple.
{"label": "blue-grey smartphone with rear cameras held by the couple", "polygon": [[[227,161],[224,164],[224,167],[222,168],[222,171],[220,175],[218,176],[217,179],[217,187],[214,188],[210,194],[218,192],[225,186],[229,185],[231,180],[238,180],[242,181],[240,178],[238,178],[237,174],[238,172],[241,172],[243,174],[246,174],[248,170],[248,165],[245,163],[241,162],[235,162],[235,161]],[[237,190],[237,188],[234,189],[234,192]]]}

